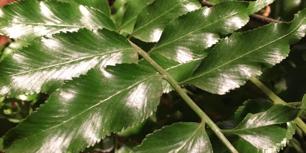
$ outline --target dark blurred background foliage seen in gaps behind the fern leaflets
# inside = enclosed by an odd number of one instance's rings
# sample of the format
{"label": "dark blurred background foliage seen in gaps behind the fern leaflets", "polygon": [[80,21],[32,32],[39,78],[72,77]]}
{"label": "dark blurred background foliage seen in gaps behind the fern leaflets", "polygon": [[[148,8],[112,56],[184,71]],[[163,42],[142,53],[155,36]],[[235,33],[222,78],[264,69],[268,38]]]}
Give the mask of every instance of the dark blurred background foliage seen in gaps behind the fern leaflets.
{"label": "dark blurred background foliage seen in gaps behind the fern leaflets", "polygon": [[[9,0],[13,1],[13,0]],[[111,0],[111,18],[115,24],[120,24],[128,0]],[[218,3],[221,0],[207,0],[207,2]],[[5,3],[1,0],[2,3]],[[0,3],[0,5],[4,5]],[[258,14],[279,21],[291,21],[294,14],[306,8],[306,0],[277,0],[270,6],[261,10]],[[263,26],[263,23],[250,21],[239,32]],[[125,34],[124,34],[125,35]],[[144,43],[138,39],[132,42],[149,51],[155,43]],[[29,43],[0,37],[0,61],[10,56],[18,48],[28,46]],[[286,102],[300,102],[306,93],[306,39],[290,47],[289,57],[273,68],[263,68],[263,74],[258,76],[269,88]],[[209,117],[215,121],[223,121],[230,118],[242,103],[248,99],[268,99],[251,82],[247,82],[226,95],[215,95],[200,90],[194,86],[185,86],[184,90],[204,110]],[[48,95],[39,93],[34,95],[18,95],[16,97],[0,97],[0,134],[3,136],[9,129],[15,127],[20,121],[31,114],[39,105],[43,104]],[[301,116],[306,121],[306,114]],[[175,122],[200,122],[200,118],[192,109],[176,94],[170,92],[162,95],[161,102],[156,113],[140,125],[126,129],[118,134],[112,134],[101,140],[93,147],[84,152],[89,153],[128,153],[132,147],[141,143],[145,136],[154,130]],[[116,146],[116,147],[115,147]],[[0,151],[1,152],[1,151]],[[282,153],[306,153],[306,139],[302,132],[297,129],[293,139],[290,140]]]}

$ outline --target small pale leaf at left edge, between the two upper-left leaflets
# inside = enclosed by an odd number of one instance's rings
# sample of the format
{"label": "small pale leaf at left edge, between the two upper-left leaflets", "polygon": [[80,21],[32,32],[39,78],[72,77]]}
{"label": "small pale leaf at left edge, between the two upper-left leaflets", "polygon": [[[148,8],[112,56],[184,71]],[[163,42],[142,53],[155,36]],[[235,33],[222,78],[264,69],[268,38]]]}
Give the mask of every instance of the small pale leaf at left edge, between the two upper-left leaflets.
{"label": "small pale leaf at left edge, between the two upper-left leaflets", "polygon": [[3,50],[3,53],[0,57],[0,61],[2,61],[5,57],[10,56],[13,54],[14,51],[17,51],[19,48],[22,48],[24,46],[28,46],[30,43],[23,41],[23,40],[18,40],[13,43],[10,43],[8,47],[6,47]]}

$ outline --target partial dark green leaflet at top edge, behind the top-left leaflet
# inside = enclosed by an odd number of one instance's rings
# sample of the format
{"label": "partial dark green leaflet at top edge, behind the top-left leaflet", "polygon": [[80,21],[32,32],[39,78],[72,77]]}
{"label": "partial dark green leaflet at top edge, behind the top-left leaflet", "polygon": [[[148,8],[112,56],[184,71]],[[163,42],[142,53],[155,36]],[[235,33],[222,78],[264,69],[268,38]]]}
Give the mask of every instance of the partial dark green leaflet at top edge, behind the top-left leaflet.
{"label": "partial dark green leaflet at top edge, behind the top-left leaflet", "polygon": [[110,17],[110,6],[106,0],[58,0],[62,2],[76,2],[81,5],[91,6],[95,9],[99,9]]}

